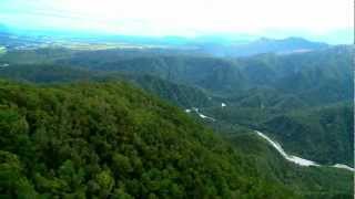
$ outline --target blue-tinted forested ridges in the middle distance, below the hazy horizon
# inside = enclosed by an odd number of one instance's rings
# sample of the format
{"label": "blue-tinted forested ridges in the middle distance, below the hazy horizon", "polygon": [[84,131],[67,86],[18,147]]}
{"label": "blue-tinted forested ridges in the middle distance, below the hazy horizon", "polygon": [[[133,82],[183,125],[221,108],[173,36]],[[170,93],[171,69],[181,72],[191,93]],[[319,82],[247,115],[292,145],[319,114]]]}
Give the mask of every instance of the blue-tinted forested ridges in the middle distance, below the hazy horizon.
{"label": "blue-tinted forested ridges in the middle distance, below the hazy horizon", "polygon": [[306,104],[318,105],[352,98],[353,52],[353,46],[334,46],[307,53],[261,54],[244,59],[159,53],[106,57],[104,52],[91,52],[58,62],[99,71],[151,74],[224,95],[270,86],[293,94]]}

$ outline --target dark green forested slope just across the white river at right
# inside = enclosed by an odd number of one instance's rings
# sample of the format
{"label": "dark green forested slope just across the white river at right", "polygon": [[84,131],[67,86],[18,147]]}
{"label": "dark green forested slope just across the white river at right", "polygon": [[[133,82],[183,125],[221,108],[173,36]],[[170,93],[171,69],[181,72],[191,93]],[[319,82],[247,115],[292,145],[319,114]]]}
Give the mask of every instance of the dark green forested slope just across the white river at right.
{"label": "dark green forested slope just across the white river at right", "polygon": [[[248,100],[245,102],[252,103]],[[247,126],[271,135],[286,151],[325,165],[354,164],[354,106],[351,102],[282,112],[280,108],[229,104],[202,112],[219,128]],[[230,132],[231,129],[226,129]]]}

